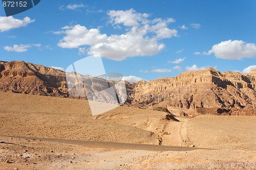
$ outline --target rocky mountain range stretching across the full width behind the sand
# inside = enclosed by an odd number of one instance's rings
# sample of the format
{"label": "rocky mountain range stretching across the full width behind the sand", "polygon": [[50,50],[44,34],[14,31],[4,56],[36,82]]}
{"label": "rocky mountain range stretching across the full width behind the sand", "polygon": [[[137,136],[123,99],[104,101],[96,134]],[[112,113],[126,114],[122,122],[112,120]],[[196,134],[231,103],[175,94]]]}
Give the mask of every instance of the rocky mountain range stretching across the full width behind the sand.
{"label": "rocky mountain range stretching across the full width behind the sand", "polygon": [[[81,76],[86,80],[85,86],[89,92],[101,91],[113,86],[114,81],[103,78]],[[70,95],[66,72],[51,67],[26,63],[24,61],[0,61],[0,91],[16,93],[74,97]],[[87,98],[84,94],[84,84],[77,96]],[[220,72],[215,68],[186,71],[174,78],[159,78],[154,81],[125,81],[128,99],[126,106],[168,112],[167,108],[175,107],[189,110],[198,108],[256,110],[256,69],[248,74],[236,71]],[[120,89],[116,89],[117,91]],[[106,99],[113,96],[105,94]],[[124,98],[124,96],[121,96]],[[123,99],[122,99],[123,100]],[[207,109],[200,112],[207,112]]]}

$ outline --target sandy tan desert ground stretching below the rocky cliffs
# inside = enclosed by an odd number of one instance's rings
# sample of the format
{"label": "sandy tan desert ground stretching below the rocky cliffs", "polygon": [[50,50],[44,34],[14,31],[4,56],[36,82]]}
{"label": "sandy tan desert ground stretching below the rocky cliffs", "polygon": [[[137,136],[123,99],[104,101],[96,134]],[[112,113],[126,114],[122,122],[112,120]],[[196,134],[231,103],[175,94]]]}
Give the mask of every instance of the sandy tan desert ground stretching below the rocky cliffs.
{"label": "sandy tan desert ground stretching below the rocky cliffs", "polygon": [[0,98],[0,169],[256,169],[255,116],[121,106],[92,116],[86,100]]}

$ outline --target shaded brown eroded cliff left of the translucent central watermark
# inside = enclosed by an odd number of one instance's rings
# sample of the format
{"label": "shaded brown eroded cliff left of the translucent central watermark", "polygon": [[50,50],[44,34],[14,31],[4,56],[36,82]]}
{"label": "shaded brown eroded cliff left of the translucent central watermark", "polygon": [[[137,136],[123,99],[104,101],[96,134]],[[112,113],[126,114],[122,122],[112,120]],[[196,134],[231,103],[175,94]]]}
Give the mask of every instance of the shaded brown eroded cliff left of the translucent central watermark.
{"label": "shaded brown eroded cliff left of the translucent central watermark", "polygon": [[0,90],[68,96],[65,72],[24,61],[0,61]]}

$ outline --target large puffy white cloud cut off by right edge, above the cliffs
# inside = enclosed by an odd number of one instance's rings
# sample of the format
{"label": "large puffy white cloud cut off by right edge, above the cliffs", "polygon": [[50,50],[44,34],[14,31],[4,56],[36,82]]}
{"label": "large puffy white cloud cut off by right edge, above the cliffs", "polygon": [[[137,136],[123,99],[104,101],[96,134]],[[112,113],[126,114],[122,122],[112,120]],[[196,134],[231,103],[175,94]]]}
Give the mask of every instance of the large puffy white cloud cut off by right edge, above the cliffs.
{"label": "large puffy white cloud cut off by right edge, above the cliffs", "polygon": [[222,41],[214,46],[208,52],[208,55],[214,53],[217,58],[239,60],[242,58],[256,57],[256,44],[247,43],[242,40]]}

